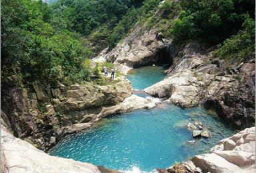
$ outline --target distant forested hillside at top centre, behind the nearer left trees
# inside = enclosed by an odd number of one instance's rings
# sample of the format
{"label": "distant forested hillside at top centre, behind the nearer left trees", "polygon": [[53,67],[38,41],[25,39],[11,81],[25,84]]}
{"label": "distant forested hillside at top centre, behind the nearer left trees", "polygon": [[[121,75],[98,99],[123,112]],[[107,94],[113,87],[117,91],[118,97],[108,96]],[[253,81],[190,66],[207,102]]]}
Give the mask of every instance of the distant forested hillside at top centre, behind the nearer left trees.
{"label": "distant forested hillside at top centre, behind the nearer left trees", "polygon": [[161,0],[60,0],[53,6],[69,30],[86,38],[93,55],[111,50],[137,23],[143,23],[157,10]]}

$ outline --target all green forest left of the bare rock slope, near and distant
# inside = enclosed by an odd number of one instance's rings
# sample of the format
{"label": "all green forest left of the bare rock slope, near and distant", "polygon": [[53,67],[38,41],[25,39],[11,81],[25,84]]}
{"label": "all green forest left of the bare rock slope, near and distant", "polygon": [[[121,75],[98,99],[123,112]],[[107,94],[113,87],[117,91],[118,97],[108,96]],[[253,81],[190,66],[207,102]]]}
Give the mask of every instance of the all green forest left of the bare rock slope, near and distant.
{"label": "all green forest left of the bare rock slope, near and distant", "polygon": [[87,58],[113,48],[159,1],[3,0],[1,79],[15,75],[23,83],[51,85],[98,81],[101,74]]}

